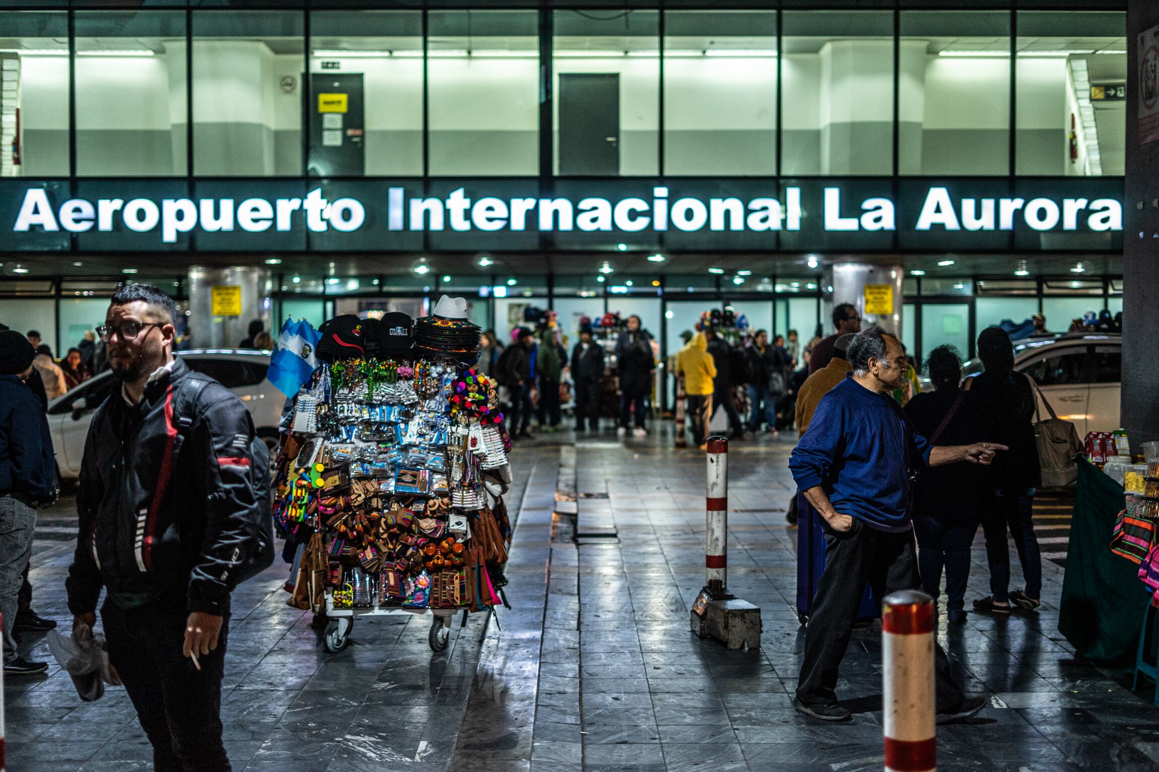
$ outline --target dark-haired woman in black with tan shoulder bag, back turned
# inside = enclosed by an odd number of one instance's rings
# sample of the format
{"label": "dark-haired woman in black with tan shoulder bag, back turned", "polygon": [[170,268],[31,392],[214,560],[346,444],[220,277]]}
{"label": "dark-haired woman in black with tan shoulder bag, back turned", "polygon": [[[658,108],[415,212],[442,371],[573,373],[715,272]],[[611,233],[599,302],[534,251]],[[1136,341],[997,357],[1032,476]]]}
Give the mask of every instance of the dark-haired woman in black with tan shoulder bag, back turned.
{"label": "dark-haired woman in black with tan shoulder bag, back turned", "polygon": [[[1041,485],[1038,448],[1034,440],[1034,391],[1029,376],[1014,372],[1014,346],[1000,328],[978,336],[978,358],[985,370],[974,378],[974,391],[990,410],[998,436],[1009,448],[994,458],[990,516],[983,519],[991,595],[974,602],[977,611],[1009,613],[1011,602],[1033,611],[1042,596],[1042,556],[1034,535],[1034,494]],[[1006,529],[1014,536],[1022,564],[1025,590],[1009,591],[1011,558]]]}

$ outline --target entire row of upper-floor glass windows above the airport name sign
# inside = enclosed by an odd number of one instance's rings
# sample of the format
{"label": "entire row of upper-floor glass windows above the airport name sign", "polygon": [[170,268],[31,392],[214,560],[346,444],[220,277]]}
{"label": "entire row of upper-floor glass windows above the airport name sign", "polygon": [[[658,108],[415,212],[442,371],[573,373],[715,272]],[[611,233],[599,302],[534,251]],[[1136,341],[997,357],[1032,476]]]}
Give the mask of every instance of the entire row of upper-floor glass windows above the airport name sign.
{"label": "entire row of upper-floor glass windows above the airport name sign", "polygon": [[2,5],[3,176],[1123,169],[1122,12]]}

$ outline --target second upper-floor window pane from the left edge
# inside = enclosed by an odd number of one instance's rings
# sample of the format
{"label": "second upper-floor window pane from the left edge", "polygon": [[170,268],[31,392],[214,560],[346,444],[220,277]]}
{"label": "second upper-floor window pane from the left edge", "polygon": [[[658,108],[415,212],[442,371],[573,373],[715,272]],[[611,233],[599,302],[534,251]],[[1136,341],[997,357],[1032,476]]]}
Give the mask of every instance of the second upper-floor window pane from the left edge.
{"label": "second upper-floor window pane from the left edge", "polygon": [[185,14],[78,12],[76,174],[185,174]]}

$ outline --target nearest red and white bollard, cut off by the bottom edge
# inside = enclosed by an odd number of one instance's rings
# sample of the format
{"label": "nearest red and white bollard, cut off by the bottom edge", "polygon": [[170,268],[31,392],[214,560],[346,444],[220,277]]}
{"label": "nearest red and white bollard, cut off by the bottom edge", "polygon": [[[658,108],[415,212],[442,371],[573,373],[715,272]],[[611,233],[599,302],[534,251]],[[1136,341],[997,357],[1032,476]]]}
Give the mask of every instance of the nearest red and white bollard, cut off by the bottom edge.
{"label": "nearest red and white bollard, cut off by the bottom edge", "polygon": [[934,602],[902,590],[882,603],[885,772],[938,767],[934,705]]}

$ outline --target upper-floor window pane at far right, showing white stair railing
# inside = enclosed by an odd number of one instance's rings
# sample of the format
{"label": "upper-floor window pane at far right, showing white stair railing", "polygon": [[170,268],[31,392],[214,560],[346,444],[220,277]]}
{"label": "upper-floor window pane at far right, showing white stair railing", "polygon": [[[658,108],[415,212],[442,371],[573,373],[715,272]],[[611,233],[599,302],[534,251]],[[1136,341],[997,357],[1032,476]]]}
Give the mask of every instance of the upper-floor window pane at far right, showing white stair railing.
{"label": "upper-floor window pane at far right, showing white stair railing", "polygon": [[1020,175],[1121,175],[1127,135],[1127,16],[1018,15]]}

